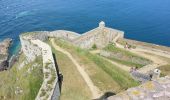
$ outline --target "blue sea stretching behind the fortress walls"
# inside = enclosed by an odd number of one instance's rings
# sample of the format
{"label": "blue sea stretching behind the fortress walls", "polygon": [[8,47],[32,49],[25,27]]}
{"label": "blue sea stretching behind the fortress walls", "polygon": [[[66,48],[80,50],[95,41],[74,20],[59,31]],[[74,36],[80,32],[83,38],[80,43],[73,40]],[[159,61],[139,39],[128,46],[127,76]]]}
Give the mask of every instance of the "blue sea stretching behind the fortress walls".
{"label": "blue sea stretching behind the fortress walls", "polygon": [[78,33],[101,20],[129,39],[170,46],[170,0],[0,0],[0,40],[29,31],[65,29]]}

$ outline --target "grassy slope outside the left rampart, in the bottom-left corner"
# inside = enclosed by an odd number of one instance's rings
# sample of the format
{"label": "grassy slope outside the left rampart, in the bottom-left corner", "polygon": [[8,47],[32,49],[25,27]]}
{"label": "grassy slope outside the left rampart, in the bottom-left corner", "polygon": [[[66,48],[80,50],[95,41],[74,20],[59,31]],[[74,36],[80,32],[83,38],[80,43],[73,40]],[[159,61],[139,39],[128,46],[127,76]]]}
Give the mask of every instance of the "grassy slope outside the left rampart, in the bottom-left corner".
{"label": "grassy slope outside the left rampart, in the bottom-left corner", "polygon": [[[42,61],[37,58],[19,70],[17,67],[23,60],[25,59],[22,54],[19,61],[11,69],[0,72],[0,100],[35,99],[43,82]],[[33,65],[35,67],[29,73],[28,69],[32,68]]]}

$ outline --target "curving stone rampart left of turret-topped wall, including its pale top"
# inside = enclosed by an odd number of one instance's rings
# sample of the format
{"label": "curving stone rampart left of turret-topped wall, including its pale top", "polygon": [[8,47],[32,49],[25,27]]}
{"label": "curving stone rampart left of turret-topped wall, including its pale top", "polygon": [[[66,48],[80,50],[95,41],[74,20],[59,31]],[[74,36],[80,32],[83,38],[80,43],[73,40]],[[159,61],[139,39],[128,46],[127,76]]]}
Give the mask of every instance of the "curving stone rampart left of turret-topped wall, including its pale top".
{"label": "curving stone rampart left of turret-topped wall, including its pale top", "polygon": [[[70,31],[53,31],[53,32],[33,32],[20,35],[22,51],[26,56],[27,62],[32,62],[38,56],[42,56],[44,79],[41,88],[36,96],[36,100],[58,100],[60,95],[58,72],[56,70],[51,47],[46,44],[48,37],[63,38],[71,41],[77,38],[79,34]],[[47,66],[48,65],[48,66]],[[48,77],[46,73],[51,73]],[[56,76],[54,76],[54,73]],[[48,81],[55,80],[48,84]],[[42,96],[42,92],[46,94]],[[54,93],[55,91],[55,93]],[[56,93],[57,92],[57,93]]]}

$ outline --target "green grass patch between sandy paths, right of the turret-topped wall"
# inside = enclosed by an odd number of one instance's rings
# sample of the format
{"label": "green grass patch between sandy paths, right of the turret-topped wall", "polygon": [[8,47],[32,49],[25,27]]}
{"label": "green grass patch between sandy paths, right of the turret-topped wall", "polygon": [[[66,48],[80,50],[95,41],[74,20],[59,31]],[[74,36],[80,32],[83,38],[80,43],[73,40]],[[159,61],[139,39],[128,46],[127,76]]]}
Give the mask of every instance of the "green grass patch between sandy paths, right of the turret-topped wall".
{"label": "green grass patch between sandy paths, right of the turret-topped wall", "polygon": [[124,64],[124,65],[131,66],[131,67],[141,68],[141,67],[151,63],[150,60],[140,57],[140,56],[133,54],[129,51],[117,48],[113,44],[109,44],[108,46],[106,46],[104,48],[104,50],[109,51],[115,55],[121,55],[121,57],[116,57],[116,56],[108,57],[109,59],[111,59],[115,62]]}

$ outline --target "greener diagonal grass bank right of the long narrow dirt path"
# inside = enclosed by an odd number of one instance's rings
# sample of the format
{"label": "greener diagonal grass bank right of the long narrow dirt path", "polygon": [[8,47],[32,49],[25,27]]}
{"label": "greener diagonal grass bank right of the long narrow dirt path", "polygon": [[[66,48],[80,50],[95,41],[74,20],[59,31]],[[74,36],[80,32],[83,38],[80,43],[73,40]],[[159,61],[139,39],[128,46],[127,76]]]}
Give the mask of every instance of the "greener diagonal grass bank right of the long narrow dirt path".
{"label": "greener diagonal grass bank right of the long narrow dirt path", "polygon": [[100,67],[102,70],[104,70],[107,74],[109,74],[116,83],[118,83],[121,87],[121,89],[127,89],[132,86],[137,86],[138,83],[134,81],[131,76],[121,70],[120,68],[114,66],[110,62],[104,60],[98,55],[90,54],[87,51],[79,50],[84,52],[84,55],[86,55],[90,60],[92,60],[98,67]]}

